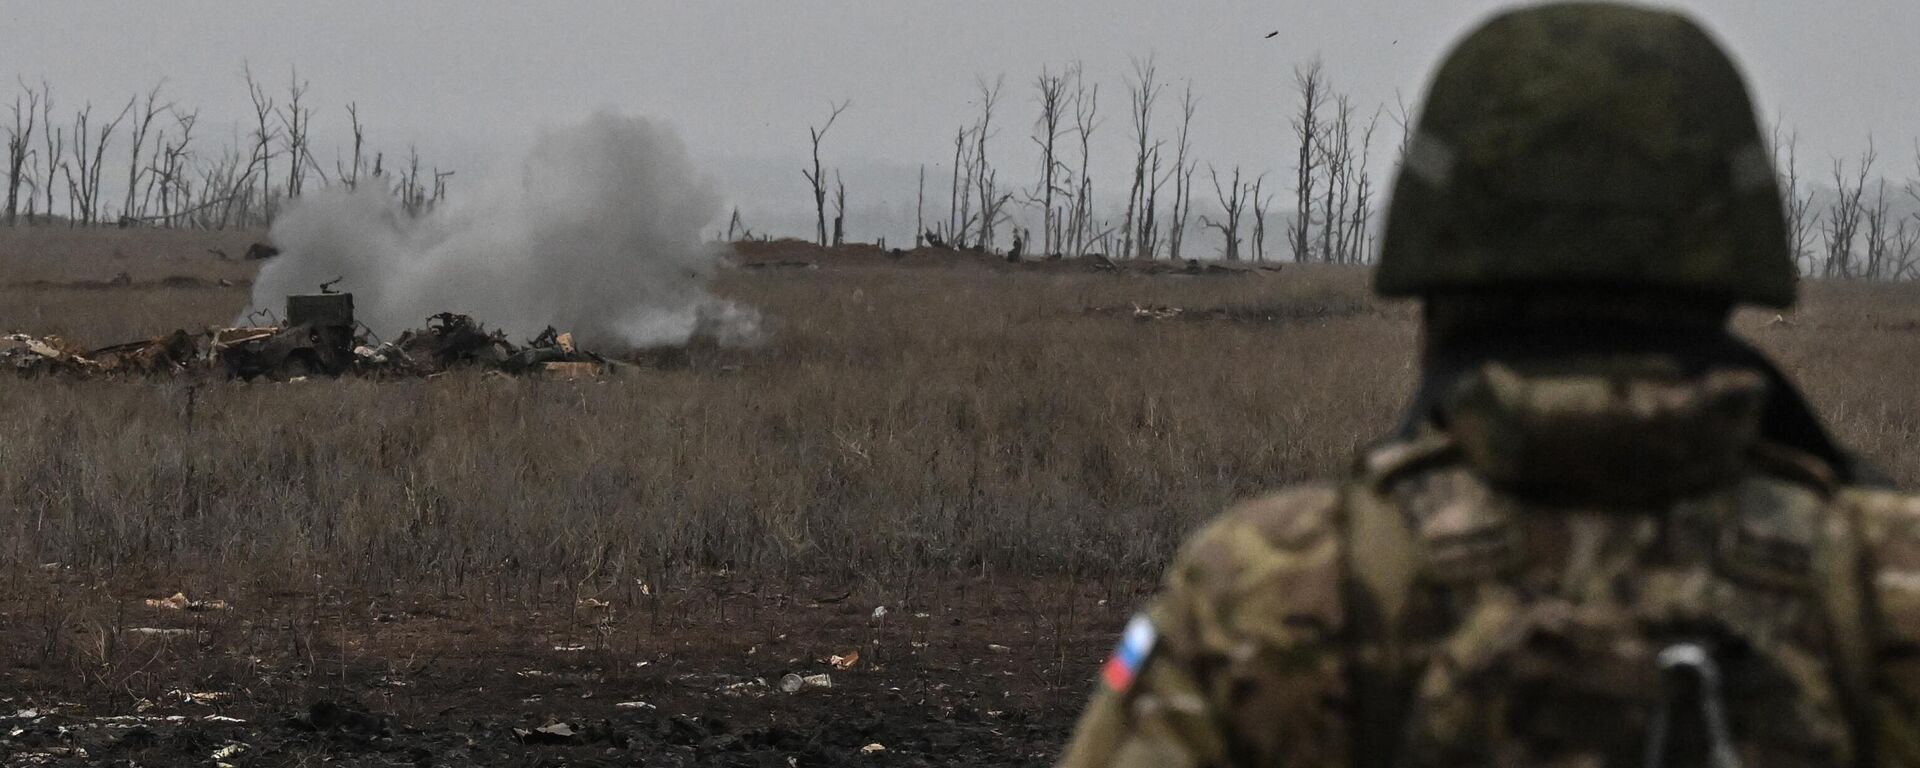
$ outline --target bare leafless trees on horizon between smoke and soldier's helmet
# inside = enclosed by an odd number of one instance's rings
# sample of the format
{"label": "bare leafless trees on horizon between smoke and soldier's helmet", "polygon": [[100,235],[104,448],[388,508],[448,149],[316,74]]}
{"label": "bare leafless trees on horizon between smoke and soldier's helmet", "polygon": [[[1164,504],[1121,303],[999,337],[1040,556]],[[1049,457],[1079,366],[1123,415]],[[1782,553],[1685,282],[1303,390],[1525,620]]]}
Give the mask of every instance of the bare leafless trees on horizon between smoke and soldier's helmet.
{"label": "bare leafless trees on horizon between smoke and soldier's helmet", "polygon": [[[1352,98],[1329,84],[1325,69],[1311,63],[1296,71],[1300,106],[1292,117],[1298,146],[1294,211],[1286,240],[1294,261],[1357,263],[1367,257],[1375,221],[1375,182],[1369,175],[1380,109],[1365,121]],[[1091,83],[1079,63],[1043,69],[1033,81],[1031,140],[1039,173],[1031,188],[1004,182],[995,167],[993,138],[1006,81],[977,79],[975,115],[954,129],[952,177],[947,217],[927,221],[925,165],[920,169],[916,200],[916,246],[995,250],[1002,228],[1012,227],[1010,250],[1041,253],[1108,253],[1129,259],[1185,259],[1192,232],[1217,232],[1223,259],[1277,259],[1267,246],[1267,223],[1275,219],[1277,188],[1263,173],[1235,165],[1206,163],[1212,202],[1194,198],[1194,179],[1202,161],[1192,144],[1194,113],[1200,98],[1192,83],[1171,83],[1152,58],[1135,60],[1125,81],[1125,140],[1131,152],[1125,204],[1117,211],[1096,207],[1091,175],[1092,138],[1102,125],[1100,84]],[[1177,96],[1177,98],[1175,98]],[[1169,104],[1171,102],[1171,104]],[[1173,113],[1164,115],[1171,106]],[[845,184],[835,175],[833,236],[828,236],[828,184],[820,163],[820,140],[845,104],[833,106],[822,125],[808,127],[814,161],[803,169],[812,192],[816,240],[839,242],[845,219]],[[1402,109],[1404,111],[1404,109]],[[1404,123],[1404,121],[1402,121]],[[1208,207],[1206,215],[1196,215]],[[1117,213],[1117,215],[1116,215]],[[1039,238],[1027,225],[1039,228]],[[1198,227],[1196,227],[1198,223]]]}

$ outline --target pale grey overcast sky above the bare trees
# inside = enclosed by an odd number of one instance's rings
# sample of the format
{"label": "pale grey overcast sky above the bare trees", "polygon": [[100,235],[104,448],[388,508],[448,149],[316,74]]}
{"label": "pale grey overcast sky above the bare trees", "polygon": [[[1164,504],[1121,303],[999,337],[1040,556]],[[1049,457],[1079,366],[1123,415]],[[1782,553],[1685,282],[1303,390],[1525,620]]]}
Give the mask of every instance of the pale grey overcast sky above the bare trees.
{"label": "pale grey overcast sky above the bare trees", "polygon": [[[730,167],[716,171],[722,186],[733,186],[730,194],[753,198],[741,186],[764,182],[791,186],[799,204],[804,123],[824,115],[829,100],[854,102],[833,131],[829,163],[945,169],[954,127],[972,119],[975,75],[1006,75],[1006,129],[995,152],[1006,173],[1031,177],[1031,79],[1043,65],[1073,60],[1102,83],[1108,121],[1098,144],[1117,167],[1125,161],[1123,75],[1129,58],[1144,54],[1158,58],[1164,75],[1192,79],[1204,161],[1284,173],[1292,65],[1317,54],[1359,104],[1392,104],[1396,90],[1411,102],[1446,46],[1501,6],[0,0],[0,75],[44,77],[63,109],[88,98],[119,104],[165,77],[175,100],[227,121],[246,109],[242,61],[271,83],[298,67],[321,108],[324,156],[344,132],[342,104],[355,100],[378,146],[417,142],[461,169],[493,161],[541,125],[607,106],[678,125],[699,156]],[[1728,42],[1763,111],[1784,113],[1801,131],[1803,157],[1814,167],[1826,165],[1828,152],[1857,152],[1868,134],[1903,171],[1912,167],[1920,2],[1697,0],[1678,8]],[[1279,36],[1265,38],[1273,31]],[[753,173],[743,169],[764,169],[766,179],[745,180]]]}

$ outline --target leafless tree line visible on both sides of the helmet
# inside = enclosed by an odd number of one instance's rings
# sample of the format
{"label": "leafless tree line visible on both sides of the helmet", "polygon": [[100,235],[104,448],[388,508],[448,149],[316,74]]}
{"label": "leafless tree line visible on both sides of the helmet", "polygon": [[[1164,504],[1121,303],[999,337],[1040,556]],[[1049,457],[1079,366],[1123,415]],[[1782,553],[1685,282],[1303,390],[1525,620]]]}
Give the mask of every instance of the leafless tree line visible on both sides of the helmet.
{"label": "leafless tree line visible on both sides of the helmet", "polygon": [[[1227,261],[1371,263],[1377,246],[1380,190],[1371,167],[1377,148],[1398,165],[1411,142],[1411,109],[1396,100],[1365,109],[1334,88],[1315,60],[1294,69],[1294,104],[1283,132],[1283,167],[1290,184],[1242,165],[1202,163],[1190,140],[1200,98],[1181,81],[1167,115],[1169,83],[1152,58],[1135,60],[1125,79],[1125,142],[1129,177],[1117,190],[1121,205],[1096,207],[1092,136],[1102,127],[1100,84],[1081,63],[1044,67],[1031,83],[1035,106],[1029,140],[1039,167],[1031,186],[1008,182],[993,163],[1004,77],[975,79],[972,121],[952,134],[952,173],[947,215],[927,217],[927,167],[920,167],[914,246],[993,252],[1012,228],[1010,252],[1044,255],[1102,253],[1125,259],[1217,257]],[[820,142],[847,104],[831,106],[810,127],[814,167],[806,175],[816,209],[816,240],[845,240],[847,186],[835,173],[835,209],[828,217]],[[1382,125],[1382,117],[1390,125]],[[1398,131],[1384,146],[1380,129]],[[1853,161],[1834,159],[1828,188],[1814,188],[1799,171],[1797,136],[1774,129],[1774,167],[1786,196],[1795,259],[1803,275],[1830,278],[1907,280],[1920,276],[1920,144],[1916,175],[1905,182],[1874,177],[1880,161],[1872,142]],[[1196,202],[1194,177],[1206,167],[1212,200]],[[1288,209],[1273,204],[1286,192]],[[935,192],[937,194],[937,192]],[[1196,205],[1208,213],[1196,215]],[[739,213],[735,211],[737,225]],[[831,236],[828,223],[831,221]],[[1269,242],[1269,223],[1284,225],[1284,242]],[[730,232],[735,227],[730,225]],[[1194,227],[1198,225],[1198,227]],[[743,227],[737,227],[745,230]],[[1029,228],[1039,230],[1033,238]],[[1188,236],[1212,232],[1212,248],[1194,250]]]}

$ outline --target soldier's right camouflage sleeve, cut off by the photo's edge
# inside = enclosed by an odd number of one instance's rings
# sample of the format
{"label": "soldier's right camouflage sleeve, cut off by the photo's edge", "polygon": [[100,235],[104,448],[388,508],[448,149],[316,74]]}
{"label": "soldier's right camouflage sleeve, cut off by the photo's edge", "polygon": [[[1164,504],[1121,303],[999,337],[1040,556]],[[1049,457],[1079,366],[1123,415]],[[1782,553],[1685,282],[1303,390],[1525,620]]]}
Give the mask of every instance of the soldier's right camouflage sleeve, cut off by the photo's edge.
{"label": "soldier's right camouflage sleeve, cut off by the photo's edge", "polygon": [[1880,764],[1920,768],[1920,497],[1864,493],[1874,568],[1872,699]]}

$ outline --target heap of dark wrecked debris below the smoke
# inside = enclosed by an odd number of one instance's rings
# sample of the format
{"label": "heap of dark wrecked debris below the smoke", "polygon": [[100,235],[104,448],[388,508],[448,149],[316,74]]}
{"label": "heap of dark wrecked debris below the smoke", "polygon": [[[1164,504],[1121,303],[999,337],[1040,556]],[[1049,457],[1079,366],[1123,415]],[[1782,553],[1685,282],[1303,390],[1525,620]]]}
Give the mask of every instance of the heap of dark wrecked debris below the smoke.
{"label": "heap of dark wrecked debris below the smoke", "polygon": [[100,349],[60,336],[0,336],[0,369],[19,376],[156,376],[209,372],[227,378],[432,376],[449,369],[503,374],[599,376],[620,363],[580,349],[572,334],[547,328],[524,346],[472,317],[440,313],[394,342],[376,342],[353,321],[353,294],[286,298],[276,324],[175,330]]}

